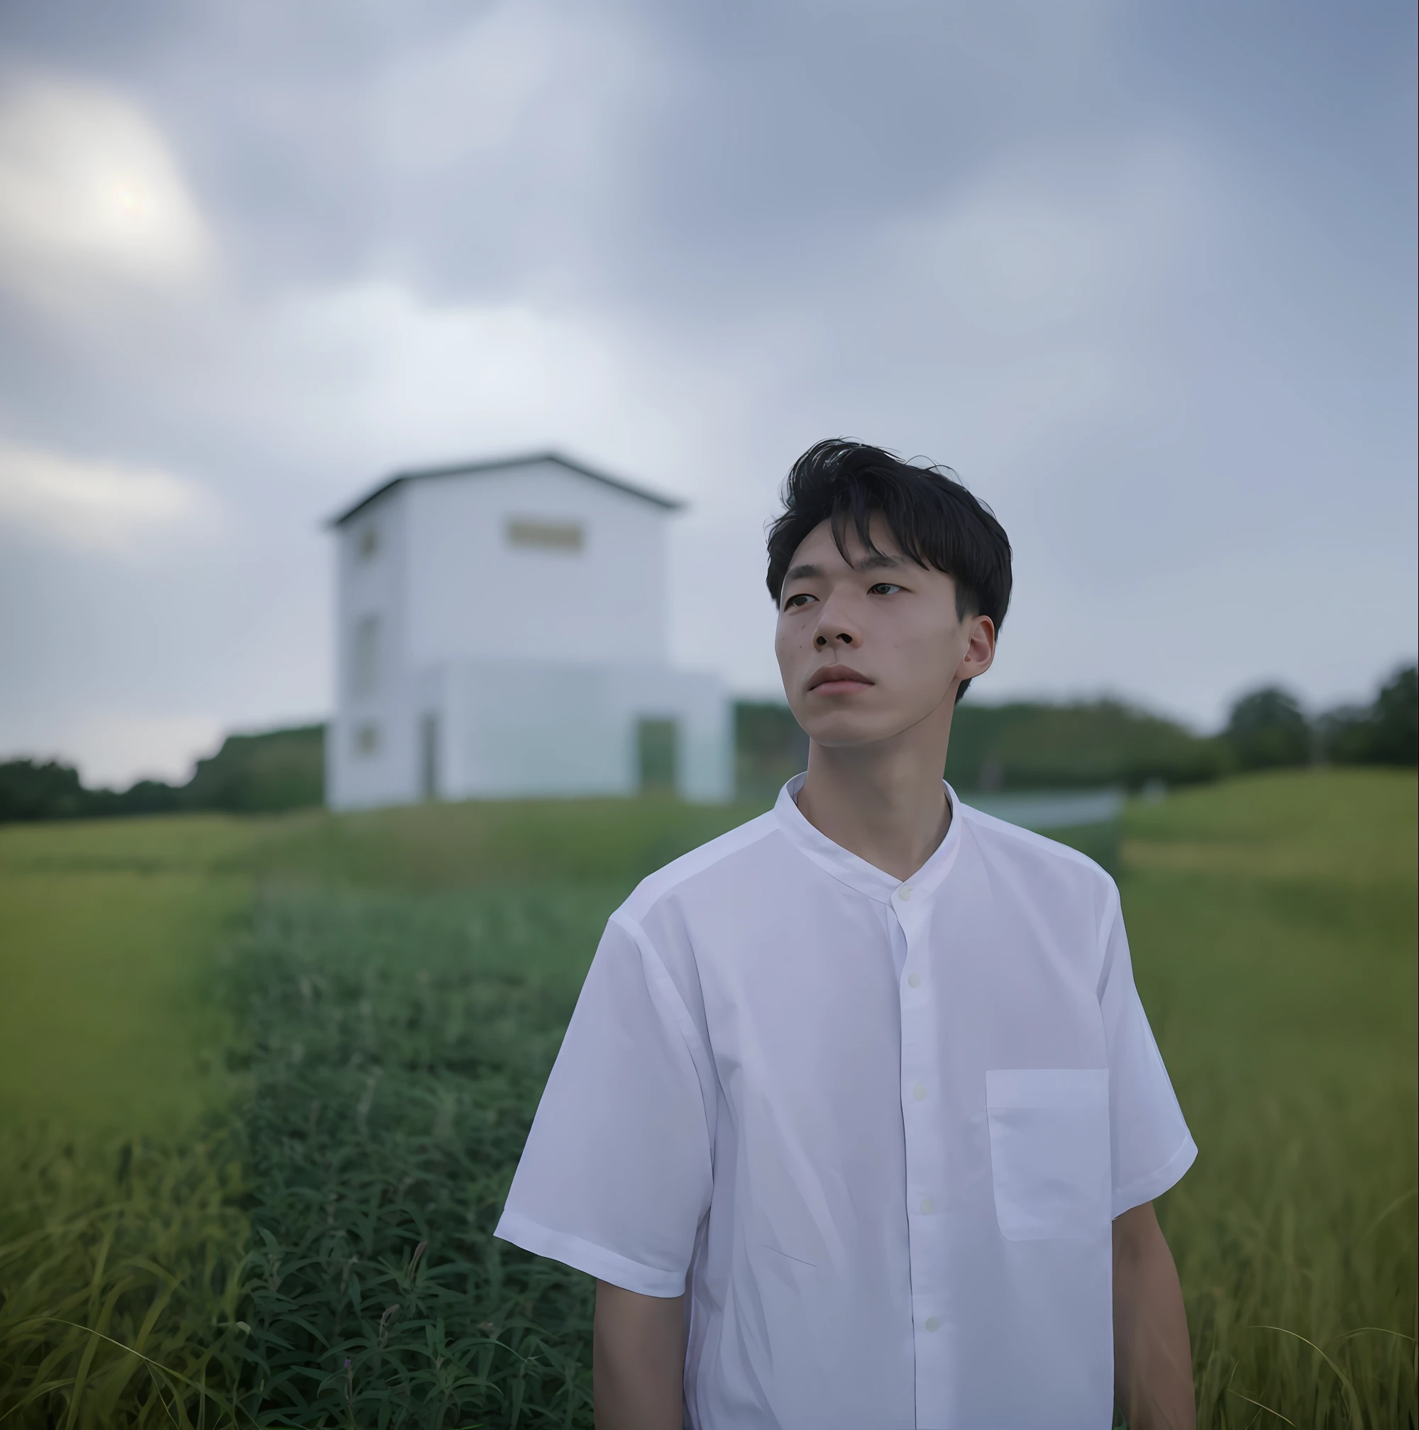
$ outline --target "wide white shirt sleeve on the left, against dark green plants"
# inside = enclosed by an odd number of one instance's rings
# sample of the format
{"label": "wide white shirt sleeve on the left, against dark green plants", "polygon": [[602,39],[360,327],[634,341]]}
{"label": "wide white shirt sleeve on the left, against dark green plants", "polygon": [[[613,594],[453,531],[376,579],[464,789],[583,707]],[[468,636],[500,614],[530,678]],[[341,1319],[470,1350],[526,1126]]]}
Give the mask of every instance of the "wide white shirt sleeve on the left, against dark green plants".
{"label": "wide white shirt sleeve on the left, against dark green plants", "polygon": [[697,1057],[664,965],[614,915],[495,1234],[628,1291],[679,1296],[712,1187]]}

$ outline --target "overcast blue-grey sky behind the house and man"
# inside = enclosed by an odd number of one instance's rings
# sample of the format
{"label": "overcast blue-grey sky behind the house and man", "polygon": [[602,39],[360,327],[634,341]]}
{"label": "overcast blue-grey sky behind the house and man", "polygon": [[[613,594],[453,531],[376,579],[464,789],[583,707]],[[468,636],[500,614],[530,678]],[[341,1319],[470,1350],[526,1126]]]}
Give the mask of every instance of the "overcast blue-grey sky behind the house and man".
{"label": "overcast blue-grey sky behind the house and man", "polygon": [[850,435],[1010,532],[973,698],[1363,698],[1416,645],[1413,61],[1409,0],[0,7],[0,756],[322,715],[322,519],[545,446],[689,500],[674,654],[741,692]]}

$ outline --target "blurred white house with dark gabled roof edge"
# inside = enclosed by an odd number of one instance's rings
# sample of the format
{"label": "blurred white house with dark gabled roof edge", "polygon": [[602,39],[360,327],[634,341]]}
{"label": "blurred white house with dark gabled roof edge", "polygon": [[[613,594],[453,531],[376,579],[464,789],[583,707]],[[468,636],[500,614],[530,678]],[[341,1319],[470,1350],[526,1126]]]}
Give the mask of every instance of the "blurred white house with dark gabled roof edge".
{"label": "blurred white house with dark gabled roof edge", "polygon": [[336,516],[330,807],[728,799],[727,694],[668,661],[679,506],[546,452],[403,472]]}

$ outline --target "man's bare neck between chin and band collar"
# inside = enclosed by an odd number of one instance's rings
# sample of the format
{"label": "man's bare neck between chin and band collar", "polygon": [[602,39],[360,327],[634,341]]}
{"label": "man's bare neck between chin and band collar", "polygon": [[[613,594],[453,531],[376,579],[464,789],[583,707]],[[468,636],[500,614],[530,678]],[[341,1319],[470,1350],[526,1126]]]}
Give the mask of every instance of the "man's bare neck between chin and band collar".
{"label": "man's bare neck between chin and band collar", "polygon": [[800,814],[840,848],[895,879],[910,878],[951,827],[941,785],[951,714],[948,705],[940,722],[923,721],[871,745],[811,742]]}

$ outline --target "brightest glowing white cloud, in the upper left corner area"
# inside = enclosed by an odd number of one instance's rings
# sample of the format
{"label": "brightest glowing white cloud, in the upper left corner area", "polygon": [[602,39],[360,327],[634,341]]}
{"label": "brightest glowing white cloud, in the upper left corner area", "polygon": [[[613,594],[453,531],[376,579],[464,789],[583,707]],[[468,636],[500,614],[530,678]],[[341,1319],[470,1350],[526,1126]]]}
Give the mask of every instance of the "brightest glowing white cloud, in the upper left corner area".
{"label": "brightest glowing white cloud, in the upper left corner area", "polygon": [[203,277],[212,240],[162,130],[116,90],[0,74],[0,282],[72,303]]}

